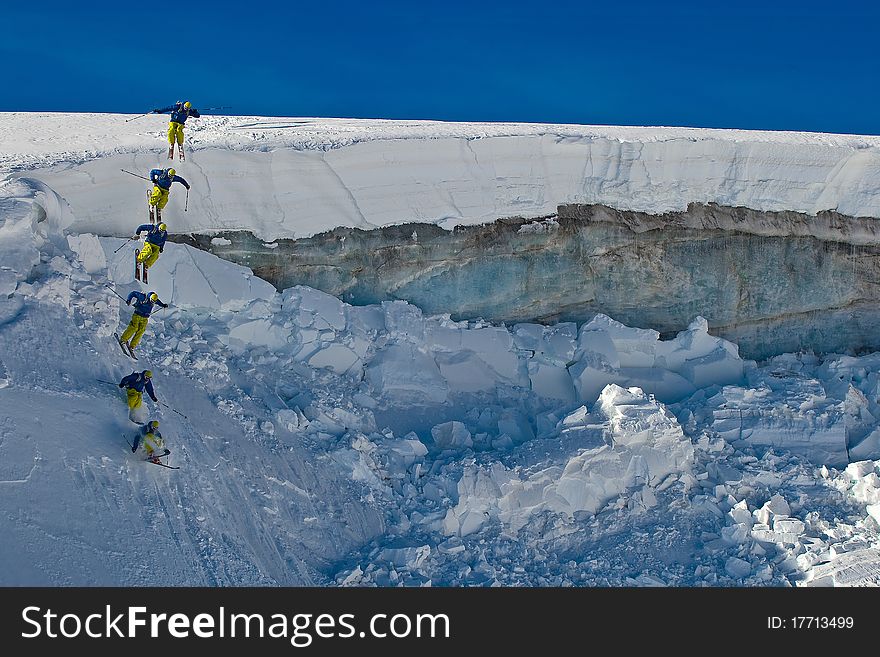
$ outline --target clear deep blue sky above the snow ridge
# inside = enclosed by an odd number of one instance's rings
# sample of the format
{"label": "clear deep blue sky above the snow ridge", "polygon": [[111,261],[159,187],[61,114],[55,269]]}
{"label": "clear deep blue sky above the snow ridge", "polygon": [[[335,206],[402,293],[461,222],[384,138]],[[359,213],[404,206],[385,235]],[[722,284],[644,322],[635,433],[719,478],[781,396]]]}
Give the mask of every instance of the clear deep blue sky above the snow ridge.
{"label": "clear deep blue sky above the snow ridge", "polygon": [[269,116],[880,134],[869,0],[49,0],[0,18],[0,111],[189,99]]}

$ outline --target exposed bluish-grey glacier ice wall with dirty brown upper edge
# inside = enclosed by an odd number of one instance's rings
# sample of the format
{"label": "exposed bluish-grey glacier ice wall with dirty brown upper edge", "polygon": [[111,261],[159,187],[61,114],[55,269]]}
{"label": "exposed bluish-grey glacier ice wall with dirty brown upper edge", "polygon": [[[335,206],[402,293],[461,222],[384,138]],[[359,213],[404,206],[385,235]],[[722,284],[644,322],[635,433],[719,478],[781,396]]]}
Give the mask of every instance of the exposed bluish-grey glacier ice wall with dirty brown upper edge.
{"label": "exposed bluish-grey glacier ice wall with dirty brown upper edge", "polygon": [[568,205],[553,217],[453,231],[410,224],[272,243],[246,232],[175,239],[279,289],[309,285],[353,304],[406,300],[455,319],[582,323],[603,313],[671,334],[702,315],[744,357],[763,359],[880,349],[876,231],[873,219],[833,212]]}

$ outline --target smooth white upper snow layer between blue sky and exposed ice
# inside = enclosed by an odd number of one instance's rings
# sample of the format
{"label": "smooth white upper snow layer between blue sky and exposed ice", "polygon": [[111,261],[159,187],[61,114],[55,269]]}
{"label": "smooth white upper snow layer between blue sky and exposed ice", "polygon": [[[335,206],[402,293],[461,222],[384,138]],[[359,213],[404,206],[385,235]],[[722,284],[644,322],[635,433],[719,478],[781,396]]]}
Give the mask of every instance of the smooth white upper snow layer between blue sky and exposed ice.
{"label": "smooth white upper snow layer between blue sky and exposed ice", "polygon": [[[0,113],[0,172],[61,194],[78,232],[124,236],[165,165],[167,117]],[[205,116],[167,218],[261,239],[336,226],[451,229],[561,204],[650,213],[717,203],[880,217],[880,137],[688,128]],[[186,208],[186,211],[184,211]],[[742,228],[742,227],[741,227]]]}

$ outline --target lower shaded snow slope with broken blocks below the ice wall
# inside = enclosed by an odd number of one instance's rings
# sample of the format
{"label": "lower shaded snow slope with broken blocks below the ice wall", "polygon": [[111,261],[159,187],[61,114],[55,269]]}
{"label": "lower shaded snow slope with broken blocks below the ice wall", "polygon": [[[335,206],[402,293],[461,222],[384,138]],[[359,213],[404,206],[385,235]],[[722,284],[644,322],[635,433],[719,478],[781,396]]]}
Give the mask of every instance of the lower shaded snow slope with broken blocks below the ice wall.
{"label": "lower shaded snow slope with broken blocks below the ice wall", "polygon": [[[169,244],[134,364],[133,246],[53,189],[0,185],[3,584],[880,583],[877,354],[353,307]],[[180,471],[126,445],[133,365]]]}

